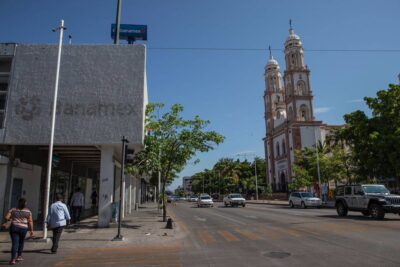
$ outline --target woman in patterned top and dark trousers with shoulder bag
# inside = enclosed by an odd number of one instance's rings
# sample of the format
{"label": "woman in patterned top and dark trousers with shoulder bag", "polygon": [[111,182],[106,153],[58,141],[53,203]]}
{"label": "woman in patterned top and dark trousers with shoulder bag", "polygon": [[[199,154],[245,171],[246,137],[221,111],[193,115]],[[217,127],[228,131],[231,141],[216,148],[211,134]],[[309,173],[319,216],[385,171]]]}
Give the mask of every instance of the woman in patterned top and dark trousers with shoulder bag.
{"label": "woman in patterned top and dark trousers with shoulder bag", "polygon": [[26,208],[26,199],[20,198],[18,206],[8,211],[5,219],[11,221],[10,237],[11,237],[11,260],[10,265],[14,265],[17,261],[23,261],[22,251],[24,250],[24,241],[27,232],[33,236],[33,220],[32,212]]}

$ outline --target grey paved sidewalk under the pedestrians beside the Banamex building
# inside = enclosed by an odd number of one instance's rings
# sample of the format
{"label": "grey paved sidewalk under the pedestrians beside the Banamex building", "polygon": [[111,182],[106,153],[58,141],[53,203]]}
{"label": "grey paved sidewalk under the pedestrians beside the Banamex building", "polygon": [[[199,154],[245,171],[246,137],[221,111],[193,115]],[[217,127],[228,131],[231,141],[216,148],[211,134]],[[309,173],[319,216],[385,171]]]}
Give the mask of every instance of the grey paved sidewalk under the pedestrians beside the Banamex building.
{"label": "grey paved sidewalk under the pedestrians beside the Banamex building", "polygon": [[[154,242],[161,244],[181,237],[182,234],[180,234],[181,231],[177,228],[177,224],[173,224],[173,229],[165,229],[165,226],[166,222],[162,222],[162,212],[158,211],[157,205],[146,203],[122,220],[123,241],[112,241],[118,231],[116,223],[112,223],[110,228],[97,228],[97,217],[91,217],[64,229],[60,240],[60,249],[107,248],[134,244],[146,245]],[[26,240],[25,250],[49,250],[51,241],[47,244],[39,241],[42,235],[42,231],[35,231],[36,238]],[[48,236],[51,237],[51,235],[52,231],[50,230]],[[0,232],[1,251],[3,253],[9,251],[10,246],[8,232]]]}

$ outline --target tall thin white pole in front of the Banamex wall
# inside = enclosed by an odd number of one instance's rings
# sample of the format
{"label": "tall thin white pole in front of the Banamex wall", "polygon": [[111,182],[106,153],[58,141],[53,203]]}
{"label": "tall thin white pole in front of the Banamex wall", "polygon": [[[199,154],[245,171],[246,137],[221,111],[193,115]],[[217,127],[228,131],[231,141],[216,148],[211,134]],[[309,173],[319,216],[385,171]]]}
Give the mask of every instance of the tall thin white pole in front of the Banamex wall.
{"label": "tall thin white pole in front of the Banamex wall", "polygon": [[50,133],[50,144],[49,144],[49,158],[47,162],[47,179],[46,187],[44,192],[44,212],[43,212],[43,239],[47,240],[47,225],[46,220],[49,214],[49,203],[50,203],[50,183],[51,183],[51,168],[53,165],[53,146],[54,146],[54,128],[56,124],[56,110],[57,110],[57,95],[58,95],[58,80],[60,78],[60,65],[61,65],[61,49],[62,49],[62,37],[63,32],[66,28],[64,27],[64,20],[61,20],[60,26],[53,29],[53,32],[59,32],[58,38],[58,55],[57,55],[57,68],[56,68],[56,81],[54,85],[54,98],[53,98],[53,112],[51,117],[51,133]]}

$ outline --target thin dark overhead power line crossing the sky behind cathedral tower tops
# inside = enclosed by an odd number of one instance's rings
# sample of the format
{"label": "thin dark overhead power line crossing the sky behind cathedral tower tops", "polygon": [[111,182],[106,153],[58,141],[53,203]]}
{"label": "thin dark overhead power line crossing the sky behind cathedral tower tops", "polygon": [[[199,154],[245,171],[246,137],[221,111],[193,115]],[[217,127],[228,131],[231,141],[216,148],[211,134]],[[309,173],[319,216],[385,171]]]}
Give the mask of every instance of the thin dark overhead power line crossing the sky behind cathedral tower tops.
{"label": "thin dark overhead power line crossing the sky behind cathedral tower tops", "polygon": [[[149,50],[177,50],[177,51],[268,51],[268,48],[233,48],[233,47],[149,47]],[[282,49],[272,51],[283,52]],[[360,52],[360,53],[400,53],[400,49],[304,49],[307,52]]]}

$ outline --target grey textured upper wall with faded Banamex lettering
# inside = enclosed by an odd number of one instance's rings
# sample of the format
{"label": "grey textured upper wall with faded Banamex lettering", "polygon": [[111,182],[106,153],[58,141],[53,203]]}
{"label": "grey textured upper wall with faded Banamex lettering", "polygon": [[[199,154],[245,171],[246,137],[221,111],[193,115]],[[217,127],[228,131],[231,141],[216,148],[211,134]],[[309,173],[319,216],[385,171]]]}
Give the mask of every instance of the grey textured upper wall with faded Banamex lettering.
{"label": "grey textured upper wall with faded Banamex lettering", "polygon": [[[143,45],[65,45],[55,144],[143,144]],[[10,77],[6,144],[48,144],[57,47],[18,45]],[[0,133],[1,134],[1,133]]]}

